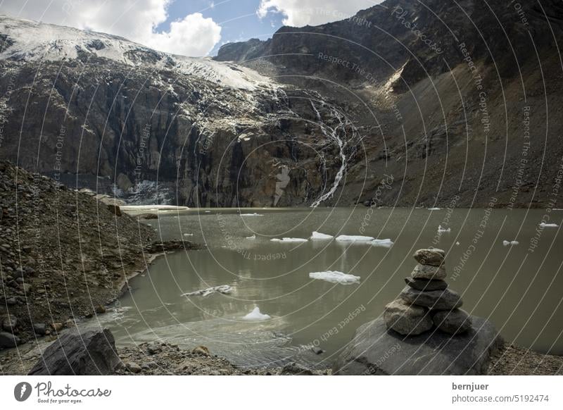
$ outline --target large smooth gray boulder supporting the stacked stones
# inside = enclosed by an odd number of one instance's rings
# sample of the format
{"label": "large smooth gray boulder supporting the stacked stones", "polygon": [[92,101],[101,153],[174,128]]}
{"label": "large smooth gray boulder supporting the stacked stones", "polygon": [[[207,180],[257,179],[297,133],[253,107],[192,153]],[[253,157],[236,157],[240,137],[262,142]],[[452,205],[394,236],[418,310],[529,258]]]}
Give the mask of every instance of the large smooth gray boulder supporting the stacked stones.
{"label": "large smooth gray boulder supporting the stacked stones", "polygon": [[467,333],[403,337],[378,318],[356,330],[333,366],[336,375],[483,375],[502,345],[494,325],[472,317]]}

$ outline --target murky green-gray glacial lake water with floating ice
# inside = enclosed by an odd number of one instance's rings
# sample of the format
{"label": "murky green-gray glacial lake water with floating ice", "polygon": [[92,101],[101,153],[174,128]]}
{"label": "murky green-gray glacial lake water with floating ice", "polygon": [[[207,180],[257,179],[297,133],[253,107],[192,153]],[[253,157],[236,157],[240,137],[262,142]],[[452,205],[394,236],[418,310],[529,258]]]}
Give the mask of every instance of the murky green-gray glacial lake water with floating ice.
{"label": "murky green-gray glacial lake water with floating ice", "polygon": [[[147,222],[163,240],[182,237],[206,249],[159,257],[96,321],[122,345],[203,344],[240,366],[298,361],[327,367],[358,326],[381,316],[396,299],[416,264],[413,252],[438,247],[447,251],[447,280],[462,294],[462,309],[489,318],[507,341],[563,354],[563,211],[549,213],[555,228],[540,228],[544,214],[364,206],[160,211],[158,220]],[[439,225],[450,232],[438,234]],[[308,238],[313,231],[389,238],[394,244],[271,241]],[[342,285],[309,277],[322,271],[353,274],[360,281]],[[217,285],[233,291],[182,296]],[[243,320],[256,306],[271,319]],[[312,346],[324,353],[313,353]]]}

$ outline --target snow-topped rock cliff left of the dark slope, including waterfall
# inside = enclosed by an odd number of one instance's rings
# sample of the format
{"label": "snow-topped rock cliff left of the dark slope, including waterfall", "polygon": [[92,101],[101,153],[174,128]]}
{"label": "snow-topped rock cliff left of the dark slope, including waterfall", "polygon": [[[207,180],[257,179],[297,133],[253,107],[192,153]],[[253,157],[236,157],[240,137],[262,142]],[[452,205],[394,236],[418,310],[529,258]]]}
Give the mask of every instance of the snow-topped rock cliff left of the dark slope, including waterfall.
{"label": "snow-topped rock cliff left of the dark slope, including waterfall", "polygon": [[[0,156],[136,203],[318,204],[359,144],[338,106],[254,70],[0,17]],[[340,172],[339,172],[340,171]]]}

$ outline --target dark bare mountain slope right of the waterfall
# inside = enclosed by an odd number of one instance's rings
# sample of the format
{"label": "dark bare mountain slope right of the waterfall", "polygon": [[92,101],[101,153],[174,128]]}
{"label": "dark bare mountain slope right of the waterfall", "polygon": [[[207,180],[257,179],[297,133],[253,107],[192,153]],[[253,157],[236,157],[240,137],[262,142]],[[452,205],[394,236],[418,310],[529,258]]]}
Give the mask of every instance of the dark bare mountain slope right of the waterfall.
{"label": "dark bare mountain slope right of the waterfall", "polygon": [[[387,0],[225,44],[218,61],[338,98],[365,131],[346,197],[553,206],[563,165],[560,1]],[[381,175],[393,186],[381,190]]]}

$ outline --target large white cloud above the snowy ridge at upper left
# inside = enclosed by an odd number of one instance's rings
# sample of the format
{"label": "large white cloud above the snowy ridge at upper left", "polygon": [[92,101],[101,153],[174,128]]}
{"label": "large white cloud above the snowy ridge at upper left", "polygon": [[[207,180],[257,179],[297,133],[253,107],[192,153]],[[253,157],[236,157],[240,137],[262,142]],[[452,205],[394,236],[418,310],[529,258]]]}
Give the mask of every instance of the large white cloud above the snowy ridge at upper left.
{"label": "large white cloud above the snowy ridge at upper left", "polygon": [[119,35],[173,54],[208,54],[220,42],[221,27],[201,13],[173,21],[167,32],[156,31],[156,27],[167,20],[171,1],[4,0],[0,1],[0,13]]}

